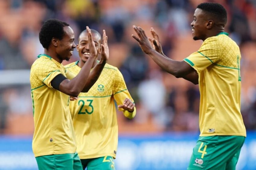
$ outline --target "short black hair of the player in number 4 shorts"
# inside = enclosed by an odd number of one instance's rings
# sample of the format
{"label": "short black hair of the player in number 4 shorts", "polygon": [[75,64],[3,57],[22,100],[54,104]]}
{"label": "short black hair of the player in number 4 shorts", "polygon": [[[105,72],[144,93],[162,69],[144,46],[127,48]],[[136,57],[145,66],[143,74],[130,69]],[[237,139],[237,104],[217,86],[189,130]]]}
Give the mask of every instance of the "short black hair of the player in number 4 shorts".
{"label": "short black hair of the player in number 4 shorts", "polygon": [[215,19],[226,25],[228,19],[227,11],[222,5],[218,3],[205,2],[199,4],[197,8],[203,10],[206,13],[209,13]]}

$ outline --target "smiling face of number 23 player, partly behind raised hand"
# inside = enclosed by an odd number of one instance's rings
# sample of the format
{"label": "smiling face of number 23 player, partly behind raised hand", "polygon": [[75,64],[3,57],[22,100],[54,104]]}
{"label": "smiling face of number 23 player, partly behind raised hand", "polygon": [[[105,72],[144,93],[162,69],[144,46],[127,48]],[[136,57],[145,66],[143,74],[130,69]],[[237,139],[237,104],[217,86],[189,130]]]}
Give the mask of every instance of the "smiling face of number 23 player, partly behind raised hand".
{"label": "smiling face of number 23 player, partly behind raised hand", "polygon": [[[97,55],[101,53],[101,36],[98,34],[95,34],[94,32],[91,33],[92,40],[95,43],[95,47],[97,50]],[[88,57],[90,55],[89,51],[89,42],[88,42],[88,34],[87,32],[83,32],[78,39],[78,44],[76,45],[76,49],[78,51],[79,57],[83,62],[86,62],[88,60]]]}

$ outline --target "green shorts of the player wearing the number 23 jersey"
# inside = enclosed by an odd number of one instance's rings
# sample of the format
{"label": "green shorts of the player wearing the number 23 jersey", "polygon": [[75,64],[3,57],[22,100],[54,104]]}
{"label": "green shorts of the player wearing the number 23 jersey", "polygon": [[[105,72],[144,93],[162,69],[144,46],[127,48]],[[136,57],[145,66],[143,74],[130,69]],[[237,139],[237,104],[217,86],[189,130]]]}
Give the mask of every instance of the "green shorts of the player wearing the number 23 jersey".
{"label": "green shorts of the player wearing the number 23 jersey", "polygon": [[115,163],[112,156],[99,158],[81,159],[83,169],[87,170],[115,170]]}

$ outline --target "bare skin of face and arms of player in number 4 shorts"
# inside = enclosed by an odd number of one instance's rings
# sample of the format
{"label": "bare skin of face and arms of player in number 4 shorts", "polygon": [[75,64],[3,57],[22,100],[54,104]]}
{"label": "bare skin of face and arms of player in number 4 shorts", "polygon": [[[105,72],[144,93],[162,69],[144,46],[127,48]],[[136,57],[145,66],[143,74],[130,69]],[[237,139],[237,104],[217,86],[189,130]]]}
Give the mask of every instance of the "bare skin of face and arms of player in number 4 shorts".
{"label": "bare skin of face and arms of player in number 4 shorts", "polygon": [[[191,23],[192,35],[194,40],[205,40],[224,32],[224,23],[211,17],[203,10],[197,8],[194,12],[194,19]],[[185,61],[175,61],[168,58],[162,51],[159,37],[155,30],[151,28],[153,38],[148,38],[141,27],[133,26],[138,37],[132,37],[139,42],[142,51],[148,54],[162,69],[177,78],[184,78],[194,84],[198,84],[198,74],[193,67]]]}

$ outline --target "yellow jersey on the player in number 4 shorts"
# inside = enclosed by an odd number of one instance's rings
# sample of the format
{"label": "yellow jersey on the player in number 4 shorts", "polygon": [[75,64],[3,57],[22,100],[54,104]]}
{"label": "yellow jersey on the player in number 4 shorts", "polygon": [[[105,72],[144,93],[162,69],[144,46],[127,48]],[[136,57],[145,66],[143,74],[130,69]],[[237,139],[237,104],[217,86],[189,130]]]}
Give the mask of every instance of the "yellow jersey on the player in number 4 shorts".
{"label": "yellow jersey on the player in number 4 shorts", "polygon": [[240,60],[239,47],[226,32],[207,38],[184,59],[199,76],[200,136],[246,136],[240,112]]}

